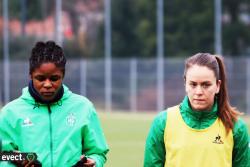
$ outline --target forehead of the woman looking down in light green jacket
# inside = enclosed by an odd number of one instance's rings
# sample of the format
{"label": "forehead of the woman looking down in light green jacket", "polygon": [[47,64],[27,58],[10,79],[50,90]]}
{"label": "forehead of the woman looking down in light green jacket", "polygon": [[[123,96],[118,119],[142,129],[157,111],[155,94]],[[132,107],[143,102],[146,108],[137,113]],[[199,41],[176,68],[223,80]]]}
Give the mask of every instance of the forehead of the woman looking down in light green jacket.
{"label": "forehead of the woman looking down in light green jacket", "polygon": [[43,63],[39,67],[35,68],[33,72],[33,74],[40,75],[52,75],[61,73],[61,68],[57,67],[54,63]]}

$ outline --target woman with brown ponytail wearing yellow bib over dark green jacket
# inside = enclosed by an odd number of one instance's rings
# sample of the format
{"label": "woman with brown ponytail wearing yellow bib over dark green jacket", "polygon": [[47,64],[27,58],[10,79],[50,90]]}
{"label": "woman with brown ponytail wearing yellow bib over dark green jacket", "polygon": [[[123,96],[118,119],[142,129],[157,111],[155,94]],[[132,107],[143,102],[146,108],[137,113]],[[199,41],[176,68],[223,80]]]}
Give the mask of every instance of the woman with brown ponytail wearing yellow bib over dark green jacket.
{"label": "woman with brown ponytail wearing yellow bib over dark green jacket", "polygon": [[247,127],[229,103],[221,57],[188,58],[184,85],[183,101],[152,123],[144,167],[249,167]]}

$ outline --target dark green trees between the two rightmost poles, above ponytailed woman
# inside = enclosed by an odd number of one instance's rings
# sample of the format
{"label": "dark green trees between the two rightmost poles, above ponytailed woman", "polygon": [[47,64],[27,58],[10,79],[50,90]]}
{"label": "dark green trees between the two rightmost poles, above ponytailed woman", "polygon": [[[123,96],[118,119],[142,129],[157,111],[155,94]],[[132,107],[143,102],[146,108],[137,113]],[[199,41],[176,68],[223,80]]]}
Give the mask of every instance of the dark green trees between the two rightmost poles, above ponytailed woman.
{"label": "dark green trees between the two rightmost poles, above ponytailed woman", "polygon": [[213,1],[165,1],[165,55],[213,52]]}

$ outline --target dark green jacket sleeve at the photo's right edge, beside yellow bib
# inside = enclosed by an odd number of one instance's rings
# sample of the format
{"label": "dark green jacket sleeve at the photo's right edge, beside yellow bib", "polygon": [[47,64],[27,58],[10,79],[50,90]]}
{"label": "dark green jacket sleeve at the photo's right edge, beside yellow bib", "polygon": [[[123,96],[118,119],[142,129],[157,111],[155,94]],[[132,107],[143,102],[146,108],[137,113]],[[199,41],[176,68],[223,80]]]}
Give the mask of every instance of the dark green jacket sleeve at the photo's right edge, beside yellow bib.
{"label": "dark green jacket sleeve at the photo's right edge, beside yellow bib", "polygon": [[246,124],[239,119],[233,129],[233,167],[250,167],[249,143]]}

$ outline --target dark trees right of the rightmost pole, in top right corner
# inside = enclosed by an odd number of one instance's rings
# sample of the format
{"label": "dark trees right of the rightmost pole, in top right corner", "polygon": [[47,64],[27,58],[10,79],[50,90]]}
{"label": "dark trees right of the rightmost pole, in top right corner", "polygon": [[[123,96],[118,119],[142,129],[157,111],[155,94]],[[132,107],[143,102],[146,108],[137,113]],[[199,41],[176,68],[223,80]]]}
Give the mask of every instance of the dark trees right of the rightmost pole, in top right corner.
{"label": "dark trees right of the rightmost pole, in top right corner", "polygon": [[[231,56],[247,54],[250,42],[249,24],[240,19],[249,15],[250,2],[248,0],[224,0],[223,13],[229,21],[223,24],[223,49],[224,53]],[[249,53],[248,53],[249,54]]]}

